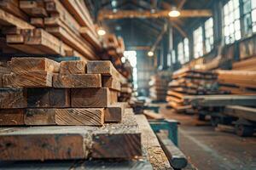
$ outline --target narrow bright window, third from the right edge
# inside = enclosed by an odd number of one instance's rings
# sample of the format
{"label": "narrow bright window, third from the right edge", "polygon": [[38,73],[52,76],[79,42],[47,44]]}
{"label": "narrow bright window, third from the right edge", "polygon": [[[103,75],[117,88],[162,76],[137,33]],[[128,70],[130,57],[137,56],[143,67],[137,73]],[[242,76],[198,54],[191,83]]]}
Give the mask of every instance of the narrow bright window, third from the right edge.
{"label": "narrow bright window, third from the right edge", "polygon": [[209,53],[213,48],[213,19],[212,17],[209,18],[205,22],[205,33],[206,33],[206,39],[205,39],[205,45],[206,45],[206,52]]}

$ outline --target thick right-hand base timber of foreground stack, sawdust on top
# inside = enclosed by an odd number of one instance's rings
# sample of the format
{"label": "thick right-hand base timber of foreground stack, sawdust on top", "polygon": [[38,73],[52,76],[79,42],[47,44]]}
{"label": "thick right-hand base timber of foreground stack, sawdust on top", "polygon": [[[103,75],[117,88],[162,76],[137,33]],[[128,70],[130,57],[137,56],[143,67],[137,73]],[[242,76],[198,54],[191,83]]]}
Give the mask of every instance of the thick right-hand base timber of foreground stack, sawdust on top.
{"label": "thick right-hand base timber of foreground stack, sawdust on top", "polygon": [[123,122],[105,124],[108,133],[95,132],[92,136],[92,157],[134,158],[142,156],[141,134],[131,109],[125,110]]}

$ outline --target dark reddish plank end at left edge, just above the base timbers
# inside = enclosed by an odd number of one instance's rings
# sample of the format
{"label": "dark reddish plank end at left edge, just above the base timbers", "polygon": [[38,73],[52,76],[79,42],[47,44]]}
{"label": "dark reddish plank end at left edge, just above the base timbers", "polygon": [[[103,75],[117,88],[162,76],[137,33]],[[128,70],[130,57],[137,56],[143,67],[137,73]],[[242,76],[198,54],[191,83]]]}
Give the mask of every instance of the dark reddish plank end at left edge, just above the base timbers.
{"label": "dark reddish plank end at left edge, just above the base timbers", "polygon": [[0,125],[24,125],[24,109],[0,109]]}

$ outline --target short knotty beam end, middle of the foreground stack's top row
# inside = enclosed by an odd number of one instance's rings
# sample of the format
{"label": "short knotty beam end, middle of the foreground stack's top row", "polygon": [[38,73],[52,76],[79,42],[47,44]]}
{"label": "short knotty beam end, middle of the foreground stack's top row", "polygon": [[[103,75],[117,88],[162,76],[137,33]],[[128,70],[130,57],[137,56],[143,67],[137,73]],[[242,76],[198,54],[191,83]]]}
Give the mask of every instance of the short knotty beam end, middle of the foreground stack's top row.
{"label": "short knotty beam end, middle of the foreground stack's top row", "polygon": [[85,61],[61,61],[61,74],[84,74]]}

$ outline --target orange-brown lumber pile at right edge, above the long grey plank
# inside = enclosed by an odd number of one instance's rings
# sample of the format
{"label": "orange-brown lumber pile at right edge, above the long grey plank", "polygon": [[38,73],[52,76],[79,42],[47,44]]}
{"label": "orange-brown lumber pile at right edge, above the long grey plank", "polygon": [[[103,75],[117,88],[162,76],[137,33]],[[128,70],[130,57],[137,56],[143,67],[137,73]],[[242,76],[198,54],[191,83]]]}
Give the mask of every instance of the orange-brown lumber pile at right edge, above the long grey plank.
{"label": "orange-brown lumber pile at right edge, above the long grey plank", "polygon": [[231,94],[256,94],[256,71],[216,71],[220,90]]}

